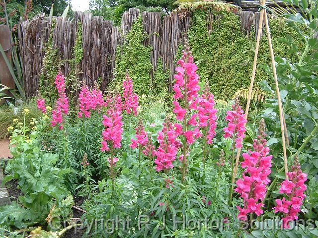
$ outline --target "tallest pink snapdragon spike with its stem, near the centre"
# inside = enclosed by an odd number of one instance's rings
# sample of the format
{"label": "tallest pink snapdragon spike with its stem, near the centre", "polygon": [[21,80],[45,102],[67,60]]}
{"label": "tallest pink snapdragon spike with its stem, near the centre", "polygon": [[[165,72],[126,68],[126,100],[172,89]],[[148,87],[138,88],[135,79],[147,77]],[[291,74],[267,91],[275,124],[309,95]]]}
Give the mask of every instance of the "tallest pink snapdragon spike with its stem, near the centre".
{"label": "tallest pink snapdragon spike with its stem, near the centre", "polygon": [[[188,147],[195,139],[202,136],[202,133],[197,127],[198,114],[194,111],[197,110],[197,102],[195,98],[198,96],[199,75],[196,73],[198,69],[194,63],[192,53],[188,42],[185,40],[185,50],[182,51],[182,59],[177,61],[180,66],[175,68],[177,72],[174,75],[175,84],[173,85],[174,99],[173,112],[176,114],[176,119],[182,121],[182,125],[175,123],[176,131],[179,135],[183,136],[182,152],[180,160],[182,161],[182,181],[185,179],[187,167]],[[180,105],[181,103],[181,105]],[[190,128],[192,126],[192,128]]]}

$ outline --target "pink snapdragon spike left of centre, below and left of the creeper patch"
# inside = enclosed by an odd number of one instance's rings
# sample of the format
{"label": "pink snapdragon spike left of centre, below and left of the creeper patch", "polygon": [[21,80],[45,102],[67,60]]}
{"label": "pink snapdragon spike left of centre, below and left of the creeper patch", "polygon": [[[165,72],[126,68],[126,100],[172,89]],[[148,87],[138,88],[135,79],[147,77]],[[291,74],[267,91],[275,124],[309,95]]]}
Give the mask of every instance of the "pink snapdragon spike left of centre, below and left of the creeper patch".
{"label": "pink snapdragon spike left of centre, below and left of the creeper patch", "polygon": [[101,142],[101,151],[109,151],[109,146],[113,148],[121,147],[121,136],[123,133],[123,122],[121,121],[121,97],[116,95],[108,103],[106,115],[103,115],[103,125],[105,130],[102,131],[103,141]]}

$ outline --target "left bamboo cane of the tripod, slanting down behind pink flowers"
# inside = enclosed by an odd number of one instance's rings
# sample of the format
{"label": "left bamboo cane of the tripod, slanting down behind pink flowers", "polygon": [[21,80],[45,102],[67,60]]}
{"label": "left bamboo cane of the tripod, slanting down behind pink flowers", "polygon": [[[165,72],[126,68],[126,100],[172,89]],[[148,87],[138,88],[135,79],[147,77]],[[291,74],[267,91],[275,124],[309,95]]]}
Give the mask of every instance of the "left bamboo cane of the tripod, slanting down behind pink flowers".
{"label": "left bamboo cane of the tripod, slanting down behind pink flowers", "polygon": [[[263,6],[265,6],[265,0],[262,0],[261,4]],[[259,22],[258,22],[258,31],[257,31],[257,38],[256,38],[254,63],[253,63],[252,77],[251,77],[250,85],[249,85],[249,89],[248,89],[247,104],[246,104],[246,109],[245,109],[245,119],[247,119],[247,115],[248,115],[248,111],[249,111],[249,105],[250,105],[250,101],[251,101],[251,97],[252,97],[254,79],[255,79],[255,74],[256,74],[259,42],[260,42],[261,32],[262,32],[262,28],[263,28],[264,12],[265,12],[265,8],[262,8],[262,10],[260,11]],[[244,126],[245,126],[245,124],[244,124]],[[237,158],[236,158],[236,162],[235,162],[235,167],[234,167],[234,171],[233,171],[232,183],[234,183],[235,178],[237,177],[240,152],[241,152],[241,148],[239,148],[239,150],[238,150],[238,154],[237,154]],[[232,185],[232,190],[233,190],[233,185]]]}

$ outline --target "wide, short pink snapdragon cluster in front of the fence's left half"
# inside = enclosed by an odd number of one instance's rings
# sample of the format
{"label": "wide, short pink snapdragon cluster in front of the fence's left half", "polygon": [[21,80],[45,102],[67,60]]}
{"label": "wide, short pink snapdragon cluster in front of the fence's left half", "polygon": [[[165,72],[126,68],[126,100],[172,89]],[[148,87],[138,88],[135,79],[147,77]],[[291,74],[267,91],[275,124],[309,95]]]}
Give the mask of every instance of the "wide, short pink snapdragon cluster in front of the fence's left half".
{"label": "wide, short pink snapdragon cluster in front of the fence's left half", "polygon": [[105,101],[100,89],[95,87],[93,90],[89,90],[87,85],[81,87],[79,92],[79,118],[81,118],[83,114],[85,118],[89,118],[89,110],[99,110],[104,105]]}

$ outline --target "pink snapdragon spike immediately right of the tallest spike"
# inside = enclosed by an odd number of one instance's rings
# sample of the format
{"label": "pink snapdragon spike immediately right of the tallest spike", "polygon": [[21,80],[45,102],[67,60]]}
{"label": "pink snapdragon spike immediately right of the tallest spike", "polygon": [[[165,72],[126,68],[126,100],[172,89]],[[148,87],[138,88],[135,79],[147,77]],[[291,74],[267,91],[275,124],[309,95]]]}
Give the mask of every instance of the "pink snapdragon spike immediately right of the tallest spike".
{"label": "pink snapdragon spike immediately right of the tallest spike", "polygon": [[212,140],[216,135],[215,129],[217,127],[217,112],[218,110],[214,108],[214,96],[210,93],[209,84],[204,86],[202,95],[197,99],[197,110],[198,110],[198,126],[203,129],[208,128],[207,144],[212,144]]}

